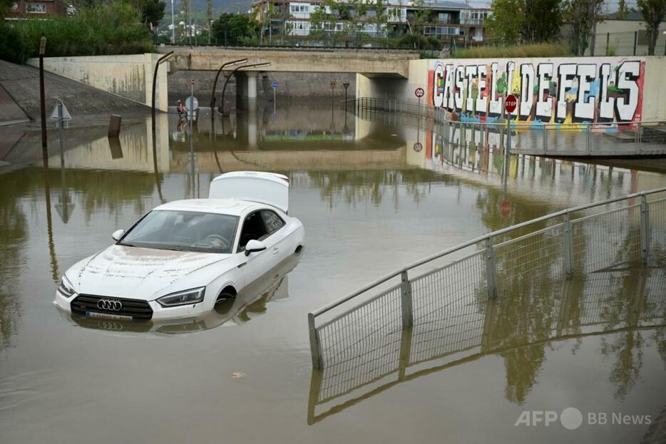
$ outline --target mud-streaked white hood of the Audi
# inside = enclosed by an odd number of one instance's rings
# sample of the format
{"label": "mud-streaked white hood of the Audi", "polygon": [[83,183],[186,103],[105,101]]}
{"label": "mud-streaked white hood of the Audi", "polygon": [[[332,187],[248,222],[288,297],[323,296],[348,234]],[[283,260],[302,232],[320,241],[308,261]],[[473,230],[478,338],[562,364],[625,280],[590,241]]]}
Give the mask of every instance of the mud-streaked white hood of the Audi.
{"label": "mud-streaked white hood of the Audi", "polygon": [[[80,294],[151,300],[172,290],[205,286],[222,270],[215,270],[210,279],[201,276],[195,283],[188,278],[194,278],[197,272],[208,275],[205,267],[230,256],[112,245],[81,262],[79,267],[73,267],[67,276]],[[178,281],[185,287],[176,288]]]}

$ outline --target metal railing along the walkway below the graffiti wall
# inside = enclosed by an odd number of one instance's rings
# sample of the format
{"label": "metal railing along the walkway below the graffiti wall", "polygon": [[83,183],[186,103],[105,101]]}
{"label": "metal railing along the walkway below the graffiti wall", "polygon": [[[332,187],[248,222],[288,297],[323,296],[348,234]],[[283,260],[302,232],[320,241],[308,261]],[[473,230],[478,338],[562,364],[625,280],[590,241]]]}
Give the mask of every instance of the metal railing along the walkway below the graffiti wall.
{"label": "metal railing along the walkway below the graffiti wall", "polygon": [[[439,124],[447,143],[463,148],[491,148],[530,155],[622,156],[666,154],[666,120],[630,123],[502,123],[449,119],[444,108],[384,98],[357,98],[361,117],[373,112],[428,118]],[[509,138],[511,134],[511,138]],[[510,146],[509,146],[510,145]]]}

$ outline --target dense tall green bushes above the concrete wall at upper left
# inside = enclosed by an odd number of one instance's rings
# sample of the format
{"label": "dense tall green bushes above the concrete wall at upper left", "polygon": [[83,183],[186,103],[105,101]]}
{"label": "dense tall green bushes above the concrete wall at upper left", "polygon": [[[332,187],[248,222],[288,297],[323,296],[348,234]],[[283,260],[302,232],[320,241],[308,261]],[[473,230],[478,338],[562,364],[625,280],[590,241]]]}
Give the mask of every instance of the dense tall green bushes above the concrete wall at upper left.
{"label": "dense tall green bushes above the concrete wall at upper left", "polygon": [[16,21],[14,29],[38,56],[39,39],[46,36],[46,56],[104,56],[153,51],[148,27],[140,12],[124,1],[103,2],[82,8],[75,16]]}

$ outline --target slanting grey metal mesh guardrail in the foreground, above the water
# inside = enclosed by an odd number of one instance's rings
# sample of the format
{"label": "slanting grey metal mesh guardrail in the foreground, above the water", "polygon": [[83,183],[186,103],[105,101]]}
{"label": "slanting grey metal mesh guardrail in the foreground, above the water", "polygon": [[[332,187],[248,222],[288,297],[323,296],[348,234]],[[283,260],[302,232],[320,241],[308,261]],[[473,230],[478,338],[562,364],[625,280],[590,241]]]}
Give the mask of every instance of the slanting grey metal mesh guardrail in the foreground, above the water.
{"label": "slanting grey metal mesh guardrail in the foreground, above the water", "polygon": [[[495,299],[528,279],[570,279],[626,263],[646,264],[650,252],[666,259],[666,197],[648,202],[666,187],[568,208],[484,234],[431,254],[375,279],[307,315],[312,367],[322,369],[349,359],[358,347],[383,341],[389,334],[432,321],[457,304]],[[619,205],[616,205],[619,204]],[[603,212],[590,210],[614,205]],[[464,254],[463,250],[473,249]],[[410,278],[409,272],[451,261]],[[399,277],[400,282],[317,325],[317,318]]]}

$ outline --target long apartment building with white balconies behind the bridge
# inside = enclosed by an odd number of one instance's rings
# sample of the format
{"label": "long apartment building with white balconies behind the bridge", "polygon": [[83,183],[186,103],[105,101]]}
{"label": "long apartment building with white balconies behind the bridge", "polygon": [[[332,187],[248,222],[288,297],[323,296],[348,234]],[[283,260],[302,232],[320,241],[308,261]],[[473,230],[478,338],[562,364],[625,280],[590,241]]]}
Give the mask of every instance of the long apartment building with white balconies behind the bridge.
{"label": "long apartment building with white balconies behind the bridge", "polygon": [[362,4],[359,11],[347,0],[335,0],[333,4],[323,0],[257,0],[252,4],[252,14],[262,23],[262,40],[270,43],[287,36],[344,40],[354,33],[370,38],[419,33],[444,44],[467,46],[483,43],[483,21],[491,10],[431,0],[423,4],[401,0],[386,0],[379,5],[370,2]]}

